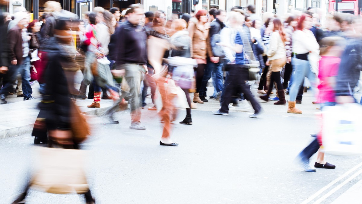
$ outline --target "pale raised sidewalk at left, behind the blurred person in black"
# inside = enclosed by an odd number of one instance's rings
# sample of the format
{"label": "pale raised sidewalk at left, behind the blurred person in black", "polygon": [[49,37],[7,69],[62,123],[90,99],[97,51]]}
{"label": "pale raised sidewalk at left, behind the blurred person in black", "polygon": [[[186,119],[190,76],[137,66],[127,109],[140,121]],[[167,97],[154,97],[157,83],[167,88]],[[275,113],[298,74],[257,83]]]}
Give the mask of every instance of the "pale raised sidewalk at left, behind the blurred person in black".
{"label": "pale raised sidewalk at left, behind the blurred person in black", "polygon": [[[15,136],[30,132],[37,119],[38,103],[41,99],[20,101],[0,105],[0,138]],[[113,100],[101,100],[101,108],[88,108],[93,99],[77,100],[80,111],[87,115],[102,115],[108,107],[113,105]]]}

